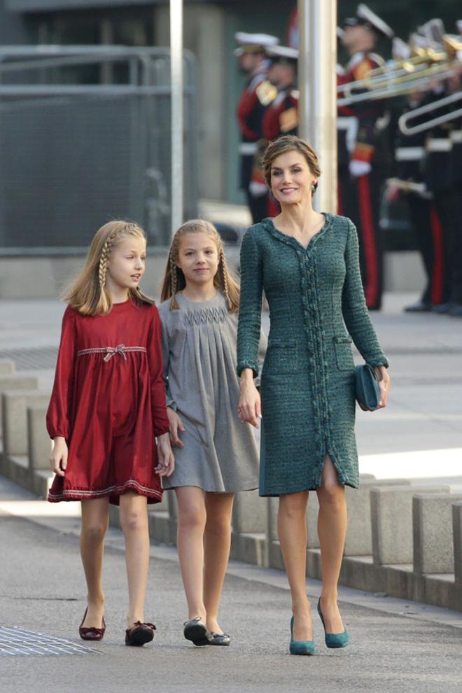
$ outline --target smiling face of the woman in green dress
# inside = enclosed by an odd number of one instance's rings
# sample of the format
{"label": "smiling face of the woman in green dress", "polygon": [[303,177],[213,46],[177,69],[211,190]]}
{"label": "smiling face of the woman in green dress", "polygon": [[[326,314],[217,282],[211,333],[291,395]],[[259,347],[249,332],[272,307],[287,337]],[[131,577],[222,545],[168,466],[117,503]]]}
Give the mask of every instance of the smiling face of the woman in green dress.
{"label": "smiling face of the woman in green dress", "polygon": [[297,151],[286,152],[274,159],[271,166],[271,190],[280,204],[297,204],[311,199],[311,185],[316,176],[307,160]]}

